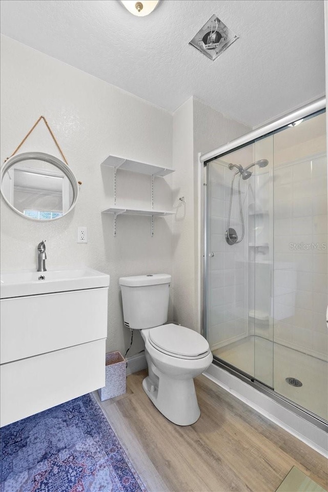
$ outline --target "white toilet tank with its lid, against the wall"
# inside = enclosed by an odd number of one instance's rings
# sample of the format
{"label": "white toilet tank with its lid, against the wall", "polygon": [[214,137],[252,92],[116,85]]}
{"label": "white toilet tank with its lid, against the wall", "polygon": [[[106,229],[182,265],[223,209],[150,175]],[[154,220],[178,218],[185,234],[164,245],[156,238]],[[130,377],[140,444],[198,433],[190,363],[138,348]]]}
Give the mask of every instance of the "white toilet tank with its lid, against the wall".
{"label": "white toilet tank with its lid, against the wall", "polygon": [[143,330],[168,320],[171,275],[121,277],[124,324]]}

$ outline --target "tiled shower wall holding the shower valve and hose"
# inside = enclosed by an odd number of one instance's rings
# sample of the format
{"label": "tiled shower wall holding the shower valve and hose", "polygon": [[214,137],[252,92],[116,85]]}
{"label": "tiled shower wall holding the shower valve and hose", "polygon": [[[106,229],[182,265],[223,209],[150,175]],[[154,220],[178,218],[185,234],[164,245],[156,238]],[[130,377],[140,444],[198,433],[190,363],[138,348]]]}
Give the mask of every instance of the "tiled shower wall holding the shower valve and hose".
{"label": "tiled shower wall holding the shower valve and hose", "polygon": [[[246,335],[245,316],[245,240],[230,246],[225,239],[229,211],[231,179],[235,171],[228,163],[213,163],[210,167],[209,207],[211,251],[209,258],[210,302],[209,343],[212,350]],[[235,179],[230,227],[241,237],[238,204],[238,180]],[[242,203],[245,206],[245,181],[241,182]]]}

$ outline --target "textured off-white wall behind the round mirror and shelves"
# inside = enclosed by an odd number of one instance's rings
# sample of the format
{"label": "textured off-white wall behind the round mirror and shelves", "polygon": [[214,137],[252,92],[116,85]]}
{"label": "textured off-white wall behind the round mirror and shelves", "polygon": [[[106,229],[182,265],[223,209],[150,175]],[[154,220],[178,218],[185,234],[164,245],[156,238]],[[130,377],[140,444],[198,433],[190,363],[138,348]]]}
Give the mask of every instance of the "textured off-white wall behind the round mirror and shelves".
{"label": "textured off-white wall behind the round mirror and shelves", "polygon": [[[1,159],[8,157],[40,115],[44,115],[72,171],[83,182],[73,212],[38,223],[10,210],[2,199],[2,270],[36,269],[36,245],[47,240],[47,268],[86,265],[111,276],[107,350],[130,341],[122,324],[118,278],[153,272],[172,273],[172,218],[113,216],[100,210],[113,204],[113,172],[100,163],[113,153],[172,166],[172,115],[43,53],[2,36]],[[128,75],[127,75],[128,76]],[[43,125],[43,122],[39,124]],[[192,144],[191,144],[192,145]],[[20,152],[59,154],[40,127]],[[151,178],[117,173],[117,204],[150,206]],[[156,178],[155,206],[171,209],[172,176]],[[76,243],[76,227],[88,228],[88,244]],[[139,334],[133,350],[143,347]]]}

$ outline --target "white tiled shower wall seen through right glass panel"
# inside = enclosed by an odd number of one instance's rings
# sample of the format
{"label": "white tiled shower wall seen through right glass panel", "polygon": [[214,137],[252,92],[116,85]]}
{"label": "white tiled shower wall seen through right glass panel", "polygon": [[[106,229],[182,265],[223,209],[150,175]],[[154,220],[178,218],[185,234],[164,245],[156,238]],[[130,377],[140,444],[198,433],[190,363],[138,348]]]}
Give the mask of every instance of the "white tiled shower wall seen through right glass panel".
{"label": "white tiled shower wall seen through right glass panel", "polygon": [[274,237],[274,340],[326,360],[325,155],[275,168]]}

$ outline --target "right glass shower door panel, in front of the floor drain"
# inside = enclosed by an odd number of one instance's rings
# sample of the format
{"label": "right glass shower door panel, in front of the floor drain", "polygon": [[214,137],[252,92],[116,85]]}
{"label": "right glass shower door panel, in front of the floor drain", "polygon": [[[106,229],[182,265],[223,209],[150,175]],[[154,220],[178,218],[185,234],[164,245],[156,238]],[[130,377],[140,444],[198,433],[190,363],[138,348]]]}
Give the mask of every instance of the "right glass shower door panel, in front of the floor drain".
{"label": "right glass shower door panel, in front of the floor drain", "polygon": [[274,134],[274,388],[328,420],[325,113]]}

